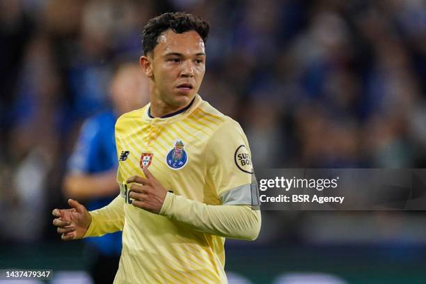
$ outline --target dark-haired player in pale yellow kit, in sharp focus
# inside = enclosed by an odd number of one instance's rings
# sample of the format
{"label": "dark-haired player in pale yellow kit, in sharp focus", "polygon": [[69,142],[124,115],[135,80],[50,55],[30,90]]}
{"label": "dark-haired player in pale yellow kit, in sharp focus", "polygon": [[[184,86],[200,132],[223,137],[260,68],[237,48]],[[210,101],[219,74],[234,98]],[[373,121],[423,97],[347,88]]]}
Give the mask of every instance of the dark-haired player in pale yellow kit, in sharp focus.
{"label": "dark-haired player in pale yellow kit, in sharp focus", "polygon": [[150,104],[116,123],[120,195],[52,212],[64,240],[123,230],[114,283],[226,283],[225,238],[258,237],[246,136],[198,95],[209,29],[186,13],[150,19],[140,58]]}

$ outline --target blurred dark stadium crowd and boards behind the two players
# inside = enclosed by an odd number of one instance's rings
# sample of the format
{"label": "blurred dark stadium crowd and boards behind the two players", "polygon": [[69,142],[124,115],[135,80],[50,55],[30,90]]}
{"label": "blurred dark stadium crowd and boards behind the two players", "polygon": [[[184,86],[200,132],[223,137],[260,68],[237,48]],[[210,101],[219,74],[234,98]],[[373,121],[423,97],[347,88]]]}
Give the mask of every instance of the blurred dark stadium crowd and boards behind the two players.
{"label": "blurred dark stadium crowd and boards behind the two players", "polygon": [[[0,268],[86,269],[51,225],[66,161],[113,65],[173,10],[211,22],[200,95],[241,123],[255,168],[425,166],[425,1],[0,0]],[[251,283],[426,283],[423,212],[262,219],[256,242],[226,244]]]}

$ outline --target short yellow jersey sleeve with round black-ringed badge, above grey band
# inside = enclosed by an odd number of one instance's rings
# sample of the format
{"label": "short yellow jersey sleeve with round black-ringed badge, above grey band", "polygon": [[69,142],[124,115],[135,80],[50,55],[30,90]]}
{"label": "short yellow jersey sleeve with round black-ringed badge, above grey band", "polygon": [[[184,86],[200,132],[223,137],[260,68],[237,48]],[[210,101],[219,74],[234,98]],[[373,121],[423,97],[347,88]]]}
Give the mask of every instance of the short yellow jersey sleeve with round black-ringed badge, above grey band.
{"label": "short yellow jersey sleeve with round black-ringed badge, above grey band", "polygon": [[235,120],[227,120],[212,135],[206,153],[207,183],[221,196],[252,182],[253,166],[246,135]]}

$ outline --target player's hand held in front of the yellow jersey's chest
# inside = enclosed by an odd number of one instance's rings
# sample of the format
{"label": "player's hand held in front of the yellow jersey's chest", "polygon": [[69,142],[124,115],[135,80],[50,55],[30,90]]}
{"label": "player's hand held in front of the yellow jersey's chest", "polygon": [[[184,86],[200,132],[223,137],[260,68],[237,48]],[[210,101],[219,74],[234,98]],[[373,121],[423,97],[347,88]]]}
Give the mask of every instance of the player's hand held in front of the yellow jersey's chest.
{"label": "player's hand held in front of the yellow jersey's chest", "polygon": [[[126,180],[130,189],[129,197],[133,199],[132,205],[158,214],[166,198],[167,191],[154,178],[154,175],[148,171],[146,166],[142,168],[142,171],[145,173],[146,178],[134,175]],[[130,184],[131,182],[132,184]]]}

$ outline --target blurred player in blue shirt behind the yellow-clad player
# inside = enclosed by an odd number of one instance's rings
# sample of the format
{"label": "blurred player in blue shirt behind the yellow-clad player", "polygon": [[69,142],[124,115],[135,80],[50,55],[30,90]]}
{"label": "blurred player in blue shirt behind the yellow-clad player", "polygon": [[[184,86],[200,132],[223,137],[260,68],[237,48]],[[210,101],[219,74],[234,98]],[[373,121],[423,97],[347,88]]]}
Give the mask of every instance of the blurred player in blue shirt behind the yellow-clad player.
{"label": "blurred player in blue shirt behind the yellow-clad player", "polygon": [[[110,86],[112,108],[86,120],[63,182],[65,196],[83,200],[88,210],[108,205],[119,192],[114,125],[118,116],[143,107],[149,100],[148,79],[139,65],[124,63]],[[121,232],[88,238],[96,260],[91,275],[95,283],[112,283],[121,253]]]}

